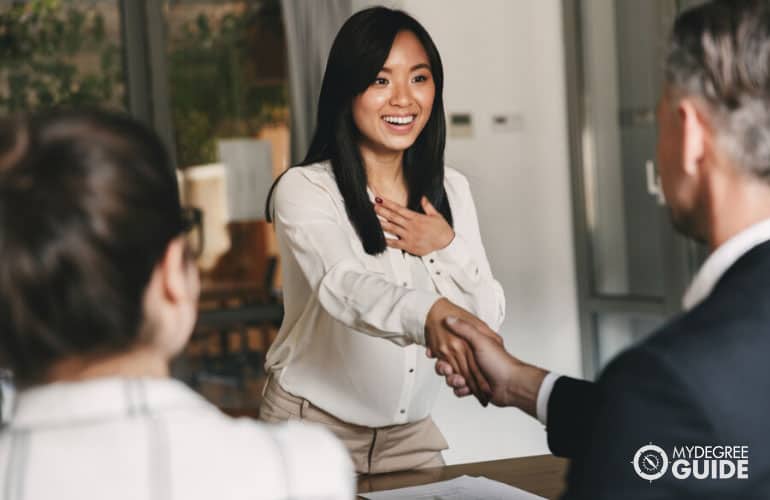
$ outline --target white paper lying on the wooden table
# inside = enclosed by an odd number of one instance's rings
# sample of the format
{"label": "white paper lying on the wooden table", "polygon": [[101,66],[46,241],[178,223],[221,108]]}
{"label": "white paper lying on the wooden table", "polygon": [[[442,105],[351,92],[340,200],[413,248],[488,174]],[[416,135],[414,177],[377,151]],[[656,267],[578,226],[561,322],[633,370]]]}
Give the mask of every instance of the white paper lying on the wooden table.
{"label": "white paper lying on the wooden table", "polygon": [[369,500],[544,500],[543,497],[486,477],[471,476],[359,496]]}

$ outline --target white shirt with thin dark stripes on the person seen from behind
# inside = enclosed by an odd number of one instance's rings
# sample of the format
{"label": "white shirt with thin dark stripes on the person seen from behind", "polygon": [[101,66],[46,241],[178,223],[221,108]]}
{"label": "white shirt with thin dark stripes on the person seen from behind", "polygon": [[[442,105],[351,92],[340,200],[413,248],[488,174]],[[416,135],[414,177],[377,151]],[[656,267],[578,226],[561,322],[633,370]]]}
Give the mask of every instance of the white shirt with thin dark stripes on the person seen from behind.
{"label": "white shirt with thin dark stripes on the person seen from behind", "polygon": [[327,431],[230,419],[171,379],[20,392],[0,431],[0,500],[349,499]]}

